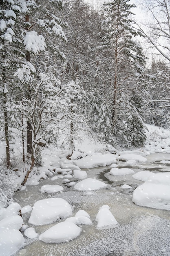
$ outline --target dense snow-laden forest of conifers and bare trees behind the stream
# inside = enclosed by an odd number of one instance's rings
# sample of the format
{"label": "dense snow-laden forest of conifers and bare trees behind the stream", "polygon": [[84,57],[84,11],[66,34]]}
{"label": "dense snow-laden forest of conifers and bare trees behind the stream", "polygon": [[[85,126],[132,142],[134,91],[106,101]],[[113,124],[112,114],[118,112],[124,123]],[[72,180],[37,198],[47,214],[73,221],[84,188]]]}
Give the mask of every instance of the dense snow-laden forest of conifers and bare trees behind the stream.
{"label": "dense snow-laden forest of conifers and bare trees behind the stream", "polygon": [[145,145],[146,124],[169,129],[170,2],[144,1],[147,24],[129,2],[0,1],[1,190],[50,145],[71,159],[81,132],[127,149]]}

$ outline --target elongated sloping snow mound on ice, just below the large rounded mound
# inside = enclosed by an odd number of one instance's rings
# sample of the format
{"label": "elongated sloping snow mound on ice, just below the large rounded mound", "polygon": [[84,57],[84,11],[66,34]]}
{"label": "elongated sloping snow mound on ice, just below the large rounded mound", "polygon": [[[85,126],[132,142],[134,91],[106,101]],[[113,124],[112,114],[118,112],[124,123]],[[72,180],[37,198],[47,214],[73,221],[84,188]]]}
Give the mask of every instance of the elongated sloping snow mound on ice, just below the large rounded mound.
{"label": "elongated sloping snow mound on ice, just below the large rounded mound", "polygon": [[73,240],[81,233],[81,229],[73,222],[64,221],[56,224],[40,235],[45,243],[62,243]]}

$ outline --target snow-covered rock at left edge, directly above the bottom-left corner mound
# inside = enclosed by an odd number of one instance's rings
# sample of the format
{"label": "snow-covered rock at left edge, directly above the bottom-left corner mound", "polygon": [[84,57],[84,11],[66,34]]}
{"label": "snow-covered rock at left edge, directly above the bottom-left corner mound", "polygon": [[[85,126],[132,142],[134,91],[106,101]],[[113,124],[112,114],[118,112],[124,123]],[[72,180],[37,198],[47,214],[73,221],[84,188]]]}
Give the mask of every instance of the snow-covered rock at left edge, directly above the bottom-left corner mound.
{"label": "snow-covered rock at left edge, directly above the bottom-left corner mound", "polygon": [[10,216],[0,221],[0,229],[18,229],[24,224],[22,217],[19,215]]}

